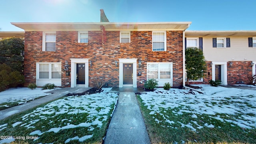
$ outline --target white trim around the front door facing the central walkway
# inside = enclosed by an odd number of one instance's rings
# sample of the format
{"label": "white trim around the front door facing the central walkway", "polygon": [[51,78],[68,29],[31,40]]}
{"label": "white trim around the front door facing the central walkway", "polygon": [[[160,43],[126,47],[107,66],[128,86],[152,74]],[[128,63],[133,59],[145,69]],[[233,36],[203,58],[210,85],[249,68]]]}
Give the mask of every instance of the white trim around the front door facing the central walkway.
{"label": "white trim around the front door facing the central walkway", "polygon": [[133,64],[133,80],[132,87],[137,88],[137,58],[119,58],[119,88],[124,87],[124,70],[123,64]]}

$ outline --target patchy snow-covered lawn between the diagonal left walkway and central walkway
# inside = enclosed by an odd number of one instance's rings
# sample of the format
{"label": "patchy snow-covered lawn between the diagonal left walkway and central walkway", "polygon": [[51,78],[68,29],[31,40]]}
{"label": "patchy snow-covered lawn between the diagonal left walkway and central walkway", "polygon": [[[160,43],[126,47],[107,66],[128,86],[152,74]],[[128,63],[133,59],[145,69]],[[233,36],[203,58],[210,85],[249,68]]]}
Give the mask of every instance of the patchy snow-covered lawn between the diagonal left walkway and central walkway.
{"label": "patchy snow-covered lawn between the diagonal left walkway and central walkway", "polygon": [[0,140],[0,144],[14,139],[29,144],[102,143],[118,98],[118,94],[108,93],[109,90],[64,97],[2,120],[1,135],[14,137]]}

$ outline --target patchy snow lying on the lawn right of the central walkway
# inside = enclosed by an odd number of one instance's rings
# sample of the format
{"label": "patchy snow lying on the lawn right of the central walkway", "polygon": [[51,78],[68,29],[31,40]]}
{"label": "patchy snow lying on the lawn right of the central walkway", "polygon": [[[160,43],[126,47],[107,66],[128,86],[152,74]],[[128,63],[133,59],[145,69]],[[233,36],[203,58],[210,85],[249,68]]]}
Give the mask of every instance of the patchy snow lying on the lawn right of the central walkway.
{"label": "patchy snow lying on the lawn right of the central walkway", "polygon": [[[212,87],[210,85],[195,86],[202,87],[204,94],[191,90],[157,88],[154,92],[141,94],[140,97],[145,106],[148,106],[148,109],[151,110],[150,114],[152,114],[156,123],[161,122],[161,120],[155,118],[157,114],[160,114],[165,122],[170,123],[168,127],[171,128],[173,128],[172,124],[175,122],[165,114],[165,110],[168,110],[168,108],[175,108],[172,112],[176,116],[187,112],[190,113],[191,118],[201,118],[202,114],[207,114],[211,118],[222,122],[231,122],[242,128],[256,128],[255,90]],[[203,127],[215,127],[213,124],[205,123],[200,126],[194,121],[191,122],[193,124],[190,122],[188,124],[178,123],[182,127],[186,126],[194,131]]]}

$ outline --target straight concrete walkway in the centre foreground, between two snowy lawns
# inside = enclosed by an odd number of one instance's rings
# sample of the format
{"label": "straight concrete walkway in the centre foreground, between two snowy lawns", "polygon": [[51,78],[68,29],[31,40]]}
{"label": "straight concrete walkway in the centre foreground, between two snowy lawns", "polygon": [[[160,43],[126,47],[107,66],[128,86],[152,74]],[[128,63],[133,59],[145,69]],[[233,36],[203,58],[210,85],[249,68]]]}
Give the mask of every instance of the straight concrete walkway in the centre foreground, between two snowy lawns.
{"label": "straight concrete walkway in the centre foreground, between two snowy lawns", "polygon": [[120,92],[104,144],[150,144],[134,92]]}

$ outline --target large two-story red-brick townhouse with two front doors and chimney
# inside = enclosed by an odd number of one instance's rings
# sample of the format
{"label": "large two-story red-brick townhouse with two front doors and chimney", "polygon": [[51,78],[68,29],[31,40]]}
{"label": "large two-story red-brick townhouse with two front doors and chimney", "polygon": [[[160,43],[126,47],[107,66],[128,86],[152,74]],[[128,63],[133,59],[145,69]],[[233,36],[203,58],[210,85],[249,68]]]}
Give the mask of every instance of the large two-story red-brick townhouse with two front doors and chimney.
{"label": "large two-story red-brick townhouse with two front doors and chimney", "polygon": [[[105,18],[105,19],[104,19]],[[25,86],[183,85],[184,30],[191,22],[12,23],[25,31]]]}

